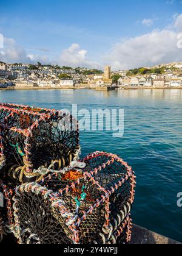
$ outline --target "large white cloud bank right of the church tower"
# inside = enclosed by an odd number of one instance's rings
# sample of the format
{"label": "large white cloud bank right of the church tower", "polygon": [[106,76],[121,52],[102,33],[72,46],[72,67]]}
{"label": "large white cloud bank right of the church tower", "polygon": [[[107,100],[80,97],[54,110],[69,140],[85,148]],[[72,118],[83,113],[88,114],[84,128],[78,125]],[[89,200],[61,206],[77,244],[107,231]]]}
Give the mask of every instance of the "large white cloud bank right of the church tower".
{"label": "large white cloud bank right of the church tower", "polygon": [[182,51],[177,47],[178,30],[182,15],[175,18],[172,29],[157,29],[139,37],[115,44],[105,62],[113,69],[129,69],[182,60]]}

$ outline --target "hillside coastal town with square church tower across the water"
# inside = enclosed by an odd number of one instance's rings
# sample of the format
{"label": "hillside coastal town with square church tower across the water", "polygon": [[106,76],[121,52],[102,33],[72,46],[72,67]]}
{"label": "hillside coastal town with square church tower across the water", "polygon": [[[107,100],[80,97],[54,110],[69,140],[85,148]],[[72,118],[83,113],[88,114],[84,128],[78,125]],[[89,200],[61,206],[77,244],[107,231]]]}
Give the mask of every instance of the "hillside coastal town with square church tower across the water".
{"label": "hillside coastal town with square church tower across the water", "polygon": [[99,69],[70,66],[0,62],[0,88],[70,89],[87,88],[182,88],[182,62],[113,71],[112,66]]}

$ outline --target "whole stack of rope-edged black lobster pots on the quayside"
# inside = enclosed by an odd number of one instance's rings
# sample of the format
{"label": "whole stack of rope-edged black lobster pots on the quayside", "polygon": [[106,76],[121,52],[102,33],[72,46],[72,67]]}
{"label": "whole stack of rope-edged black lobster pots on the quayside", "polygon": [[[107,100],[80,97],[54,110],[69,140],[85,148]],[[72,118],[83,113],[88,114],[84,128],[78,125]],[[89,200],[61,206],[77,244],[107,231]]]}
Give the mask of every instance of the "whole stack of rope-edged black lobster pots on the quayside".
{"label": "whole stack of rope-edged black lobster pots on the quayside", "polygon": [[129,243],[136,182],[127,163],[106,152],[79,160],[78,123],[66,113],[2,104],[0,120],[5,230],[18,243]]}

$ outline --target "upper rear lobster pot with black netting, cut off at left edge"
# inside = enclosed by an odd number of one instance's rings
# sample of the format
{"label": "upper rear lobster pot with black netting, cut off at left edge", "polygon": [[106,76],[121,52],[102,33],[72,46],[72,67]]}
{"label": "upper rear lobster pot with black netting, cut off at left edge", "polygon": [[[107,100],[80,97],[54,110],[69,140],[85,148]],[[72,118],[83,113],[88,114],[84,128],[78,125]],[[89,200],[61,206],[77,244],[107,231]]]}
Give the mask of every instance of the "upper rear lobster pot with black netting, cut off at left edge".
{"label": "upper rear lobster pot with black netting, cut off at left edge", "polygon": [[[0,105],[0,168],[64,168],[78,157],[78,123],[64,112]],[[30,175],[31,176],[31,175]]]}

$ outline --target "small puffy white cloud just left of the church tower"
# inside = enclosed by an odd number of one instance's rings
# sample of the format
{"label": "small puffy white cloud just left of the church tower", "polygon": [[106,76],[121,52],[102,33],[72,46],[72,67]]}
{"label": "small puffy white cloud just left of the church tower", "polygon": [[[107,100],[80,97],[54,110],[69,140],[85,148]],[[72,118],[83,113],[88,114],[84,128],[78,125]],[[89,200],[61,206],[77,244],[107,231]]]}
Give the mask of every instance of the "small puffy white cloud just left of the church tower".
{"label": "small puffy white cloud just left of the church tower", "polygon": [[79,44],[73,43],[68,49],[62,51],[59,57],[59,64],[73,67],[101,68],[99,63],[87,59],[86,55],[86,50],[81,49]]}

